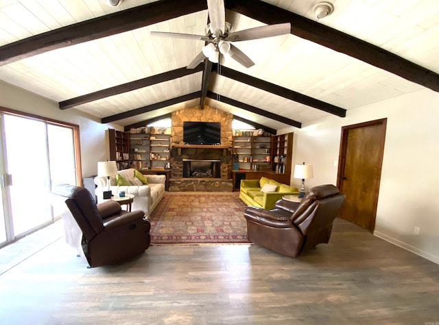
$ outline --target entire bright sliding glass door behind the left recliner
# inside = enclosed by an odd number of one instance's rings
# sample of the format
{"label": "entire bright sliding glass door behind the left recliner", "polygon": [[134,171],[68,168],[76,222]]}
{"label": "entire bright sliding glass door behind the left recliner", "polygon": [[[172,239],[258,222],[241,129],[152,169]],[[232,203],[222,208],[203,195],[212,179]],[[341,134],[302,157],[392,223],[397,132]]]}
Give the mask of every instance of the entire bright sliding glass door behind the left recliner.
{"label": "entire bright sliding glass door behind the left recliner", "polygon": [[0,245],[53,222],[52,185],[77,184],[71,127],[14,114],[2,120]]}

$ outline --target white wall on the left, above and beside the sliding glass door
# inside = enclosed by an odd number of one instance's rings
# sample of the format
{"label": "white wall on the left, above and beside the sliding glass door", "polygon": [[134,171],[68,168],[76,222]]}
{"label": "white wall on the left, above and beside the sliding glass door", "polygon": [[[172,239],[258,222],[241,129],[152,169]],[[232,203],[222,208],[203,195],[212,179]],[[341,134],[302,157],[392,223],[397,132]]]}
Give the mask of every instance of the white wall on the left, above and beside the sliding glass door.
{"label": "white wall on the left, above and beside the sliding glass door", "polygon": [[119,125],[101,124],[98,118],[77,109],[59,109],[58,103],[0,82],[0,106],[80,126],[82,176],[97,174],[97,161],[108,159],[105,130]]}

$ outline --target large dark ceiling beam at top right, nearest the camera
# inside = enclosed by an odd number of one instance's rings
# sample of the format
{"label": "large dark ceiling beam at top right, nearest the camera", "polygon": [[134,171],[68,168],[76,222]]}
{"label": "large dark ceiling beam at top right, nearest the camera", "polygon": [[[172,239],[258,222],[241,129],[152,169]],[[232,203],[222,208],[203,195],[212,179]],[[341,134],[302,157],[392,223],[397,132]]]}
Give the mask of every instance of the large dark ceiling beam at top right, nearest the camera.
{"label": "large dark ceiling beam at top right, nearest the camera", "polygon": [[264,1],[225,0],[228,10],[268,25],[291,23],[291,34],[439,92],[439,74],[380,47]]}

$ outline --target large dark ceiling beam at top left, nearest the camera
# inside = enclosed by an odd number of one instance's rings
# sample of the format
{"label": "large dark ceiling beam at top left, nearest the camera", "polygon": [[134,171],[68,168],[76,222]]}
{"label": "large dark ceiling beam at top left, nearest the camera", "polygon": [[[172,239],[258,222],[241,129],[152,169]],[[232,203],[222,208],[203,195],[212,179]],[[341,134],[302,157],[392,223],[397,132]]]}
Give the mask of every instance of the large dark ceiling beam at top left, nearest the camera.
{"label": "large dark ceiling beam at top left, nearest the camera", "polygon": [[206,0],[161,0],[61,27],[0,47],[0,66],[207,9]]}

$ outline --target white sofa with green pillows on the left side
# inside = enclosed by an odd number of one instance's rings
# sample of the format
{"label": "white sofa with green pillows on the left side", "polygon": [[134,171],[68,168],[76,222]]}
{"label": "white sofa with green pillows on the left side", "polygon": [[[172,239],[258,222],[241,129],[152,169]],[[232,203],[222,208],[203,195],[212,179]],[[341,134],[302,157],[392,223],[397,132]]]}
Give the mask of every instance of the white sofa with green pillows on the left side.
{"label": "white sofa with green pillows on the left side", "polygon": [[[142,210],[145,216],[148,217],[158,205],[160,200],[165,195],[165,175],[143,175],[147,179],[147,185],[139,184],[138,179],[134,179],[134,168],[119,170],[117,173],[124,179],[130,182],[130,186],[118,186],[116,176],[110,177],[110,190],[113,196],[118,196],[119,192],[124,191],[126,194],[133,194],[131,209]],[[104,198],[102,192],[108,190],[106,177],[95,177],[95,194],[97,196],[97,203],[101,203]]]}

